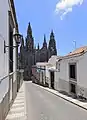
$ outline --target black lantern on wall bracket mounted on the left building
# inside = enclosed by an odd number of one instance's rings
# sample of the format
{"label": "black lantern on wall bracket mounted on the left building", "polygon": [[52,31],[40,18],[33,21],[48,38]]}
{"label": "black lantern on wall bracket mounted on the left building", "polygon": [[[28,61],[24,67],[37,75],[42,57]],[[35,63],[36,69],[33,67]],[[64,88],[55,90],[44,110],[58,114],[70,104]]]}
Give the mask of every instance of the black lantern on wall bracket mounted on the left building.
{"label": "black lantern on wall bracket mounted on the left building", "polygon": [[4,53],[6,53],[6,48],[10,48],[10,47],[12,47],[12,48],[16,48],[16,47],[18,47],[19,46],[19,44],[20,44],[20,42],[21,42],[21,40],[22,40],[22,38],[23,38],[23,36],[21,35],[21,34],[14,34],[13,35],[13,38],[15,39],[15,41],[16,41],[16,43],[17,43],[17,46],[7,46],[6,44],[5,44],[5,41],[4,41]]}

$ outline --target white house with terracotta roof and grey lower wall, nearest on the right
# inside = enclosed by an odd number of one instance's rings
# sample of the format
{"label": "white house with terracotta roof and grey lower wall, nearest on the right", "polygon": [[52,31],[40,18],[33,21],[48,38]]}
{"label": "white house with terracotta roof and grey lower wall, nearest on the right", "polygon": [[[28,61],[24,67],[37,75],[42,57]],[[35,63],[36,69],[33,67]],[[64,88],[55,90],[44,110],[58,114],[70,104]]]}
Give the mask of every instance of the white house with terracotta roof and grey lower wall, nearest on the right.
{"label": "white house with terracotta roof and grey lower wall, nearest on the right", "polygon": [[87,98],[87,46],[57,61],[55,89]]}

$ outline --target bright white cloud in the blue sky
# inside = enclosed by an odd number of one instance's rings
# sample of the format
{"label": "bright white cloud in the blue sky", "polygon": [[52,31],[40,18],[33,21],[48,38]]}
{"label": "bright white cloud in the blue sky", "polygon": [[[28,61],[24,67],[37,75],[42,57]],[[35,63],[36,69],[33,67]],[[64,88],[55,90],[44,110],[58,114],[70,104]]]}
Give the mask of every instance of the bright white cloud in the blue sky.
{"label": "bright white cloud in the blue sky", "polygon": [[60,14],[60,18],[63,20],[67,13],[72,12],[73,6],[82,5],[83,1],[84,0],[60,0],[56,4],[55,12]]}

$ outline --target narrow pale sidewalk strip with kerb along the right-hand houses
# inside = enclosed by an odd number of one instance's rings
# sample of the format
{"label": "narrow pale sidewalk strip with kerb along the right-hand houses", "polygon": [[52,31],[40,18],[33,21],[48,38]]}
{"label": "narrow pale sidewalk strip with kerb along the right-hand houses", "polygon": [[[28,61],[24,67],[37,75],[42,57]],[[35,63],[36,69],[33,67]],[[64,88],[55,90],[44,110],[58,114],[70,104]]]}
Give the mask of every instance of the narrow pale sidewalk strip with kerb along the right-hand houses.
{"label": "narrow pale sidewalk strip with kerb along the right-hand houses", "polygon": [[52,94],[68,101],[68,102],[71,102],[72,104],[75,104],[77,105],[78,107],[84,109],[84,110],[87,110],[87,102],[81,102],[77,99],[73,99],[72,97],[68,97],[66,95],[63,95],[62,93],[59,93],[58,91],[56,90],[53,90],[53,89],[50,89],[50,88],[47,88],[47,87],[43,87],[43,86],[40,86],[41,88],[43,88],[44,90],[47,90],[48,92],[51,92]]}

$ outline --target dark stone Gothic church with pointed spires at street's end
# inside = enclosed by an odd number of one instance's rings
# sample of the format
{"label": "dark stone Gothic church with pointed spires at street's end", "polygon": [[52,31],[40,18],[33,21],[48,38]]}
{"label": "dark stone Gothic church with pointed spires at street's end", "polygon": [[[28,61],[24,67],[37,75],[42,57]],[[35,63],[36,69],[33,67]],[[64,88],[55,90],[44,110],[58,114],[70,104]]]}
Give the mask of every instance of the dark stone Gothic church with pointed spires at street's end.
{"label": "dark stone Gothic church with pointed spires at street's end", "polygon": [[40,48],[39,43],[36,48],[30,23],[28,24],[25,41],[25,45],[24,39],[21,41],[19,66],[20,68],[24,69],[24,79],[30,80],[33,65],[35,65],[37,62],[47,62],[52,55],[57,55],[56,41],[52,30],[50,34],[49,44],[47,45],[46,36],[44,35],[42,48]]}

